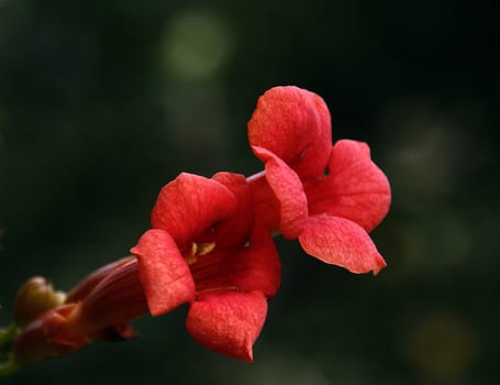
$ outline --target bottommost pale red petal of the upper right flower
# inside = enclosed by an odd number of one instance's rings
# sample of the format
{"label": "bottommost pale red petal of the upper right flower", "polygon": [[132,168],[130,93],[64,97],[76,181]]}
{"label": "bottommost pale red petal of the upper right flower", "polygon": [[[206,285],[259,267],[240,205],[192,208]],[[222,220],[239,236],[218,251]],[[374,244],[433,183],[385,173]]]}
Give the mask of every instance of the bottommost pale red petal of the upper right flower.
{"label": "bottommost pale red petal of the upper right flower", "polygon": [[316,258],[352,273],[378,274],[386,262],[367,232],[355,222],[331,216],[309,217],[299,237],[303,250]]}

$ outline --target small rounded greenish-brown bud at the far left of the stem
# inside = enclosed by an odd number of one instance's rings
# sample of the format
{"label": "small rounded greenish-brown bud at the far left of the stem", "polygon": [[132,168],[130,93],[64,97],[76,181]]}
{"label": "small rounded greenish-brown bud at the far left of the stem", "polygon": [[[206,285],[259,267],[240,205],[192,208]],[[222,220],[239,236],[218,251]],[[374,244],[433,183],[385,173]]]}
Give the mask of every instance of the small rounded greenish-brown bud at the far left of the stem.
{"label": "small rounded greenish-brown bud at the far left of the stem", "polygon": [[14,320],[26,324],[48,309],[64,304],[66,294],[54,290],[44,277],[29,279],[18,292],[14,300]]}

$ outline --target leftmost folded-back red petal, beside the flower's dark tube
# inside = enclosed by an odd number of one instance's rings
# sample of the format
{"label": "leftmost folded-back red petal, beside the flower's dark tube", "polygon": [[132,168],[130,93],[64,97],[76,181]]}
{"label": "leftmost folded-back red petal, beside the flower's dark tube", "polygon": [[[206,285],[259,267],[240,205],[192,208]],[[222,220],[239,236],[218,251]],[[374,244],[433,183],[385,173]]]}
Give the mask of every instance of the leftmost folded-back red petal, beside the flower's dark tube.
{"label": "leftmost folded-back red petal, beside the flower's dark tube", "polygon": [[195,282],[174,239],[163,230],[148,230],[131,250],[153,316],[195,300]]}

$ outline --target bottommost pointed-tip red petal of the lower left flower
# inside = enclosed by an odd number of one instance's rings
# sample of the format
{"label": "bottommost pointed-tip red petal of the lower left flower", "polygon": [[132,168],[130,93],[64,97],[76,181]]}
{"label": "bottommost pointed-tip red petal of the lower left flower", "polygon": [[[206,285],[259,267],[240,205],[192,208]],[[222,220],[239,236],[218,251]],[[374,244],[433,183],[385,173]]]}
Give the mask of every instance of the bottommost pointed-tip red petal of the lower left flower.
{"label": "bottommost pointed-tip red petal of the lower left flower", "polygon": [[259,292],[204,294],[189,309],[186,327],[203,346],[253,361],[252,346],[263,329],[267,301]]}

